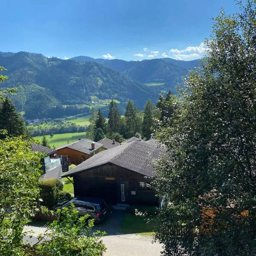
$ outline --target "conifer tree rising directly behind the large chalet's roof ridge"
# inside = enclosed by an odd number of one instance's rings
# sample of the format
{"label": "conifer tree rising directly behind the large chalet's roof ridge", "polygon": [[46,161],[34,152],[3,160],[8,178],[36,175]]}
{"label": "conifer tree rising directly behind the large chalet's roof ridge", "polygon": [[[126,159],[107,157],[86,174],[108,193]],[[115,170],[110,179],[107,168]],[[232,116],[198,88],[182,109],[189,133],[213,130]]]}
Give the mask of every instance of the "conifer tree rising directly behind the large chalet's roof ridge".
{"label": "conifer tree rising directly behind the large chalet's roof ridge", "polygon": [[144,114],[143,114],[143,122],[142,122],[142,133],[143,136],[149,140],[151,137],[151,128],[154,124],[154,104],[153,102],[148,99],[145,109],[144,109]]}

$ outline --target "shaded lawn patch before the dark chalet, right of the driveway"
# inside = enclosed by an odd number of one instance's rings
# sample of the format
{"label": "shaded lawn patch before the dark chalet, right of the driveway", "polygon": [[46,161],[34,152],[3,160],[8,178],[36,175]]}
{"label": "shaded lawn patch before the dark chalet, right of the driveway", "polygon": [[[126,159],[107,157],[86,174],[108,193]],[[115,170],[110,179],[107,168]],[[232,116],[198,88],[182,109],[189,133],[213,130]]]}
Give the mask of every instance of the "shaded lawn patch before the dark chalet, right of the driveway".
{"label": "shaded lawn patch before the dark chalet, right of the driveway", "polygon": [[120,225],[120,232],[124,234],[137,233],[142,236],[153,236],[155,222],[154,214],[151,213],[154,212],[155,208],[156,207],[134,207],[134,209],[138,209],[140,212],[148,210],[147,216],[137,216],[133,210],[128,209]]}

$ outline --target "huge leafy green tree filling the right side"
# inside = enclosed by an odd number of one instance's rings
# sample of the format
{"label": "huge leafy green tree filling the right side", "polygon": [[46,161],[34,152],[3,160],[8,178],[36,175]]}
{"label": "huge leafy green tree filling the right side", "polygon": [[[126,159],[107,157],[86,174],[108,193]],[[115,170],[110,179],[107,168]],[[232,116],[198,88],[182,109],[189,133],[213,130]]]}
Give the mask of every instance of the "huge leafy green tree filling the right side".
{"label": "huge leafy green tree filling the right side", "polygon": [[200,70],[156,136],[156,239],[173,256],[256,254],[256,2],[214,19]]}

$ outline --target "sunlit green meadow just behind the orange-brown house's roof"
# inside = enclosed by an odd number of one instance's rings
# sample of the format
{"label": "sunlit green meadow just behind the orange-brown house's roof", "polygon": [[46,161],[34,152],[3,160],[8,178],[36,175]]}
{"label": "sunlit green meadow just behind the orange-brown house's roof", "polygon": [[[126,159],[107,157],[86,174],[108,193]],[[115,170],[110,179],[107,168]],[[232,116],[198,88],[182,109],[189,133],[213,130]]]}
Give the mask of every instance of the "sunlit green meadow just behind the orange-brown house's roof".
{"label": "sunlit green meadow just behind the orange-brown house's roof", "polygon": [[[79,139],[85,139],[86,138],[86,132],[75,132],[75,133],[66,133],[66,134],[54,134],[51,138],[49,135],[46,135],[47,140],[49,142],[49,145],[51,147],[58,148],[62,145],[67,144],[67,139],[69,140],[69,143],[75,142]],[[35,139],[38,139],[39,142],[41,142],[43,136],[37,136],[34,137]]]}

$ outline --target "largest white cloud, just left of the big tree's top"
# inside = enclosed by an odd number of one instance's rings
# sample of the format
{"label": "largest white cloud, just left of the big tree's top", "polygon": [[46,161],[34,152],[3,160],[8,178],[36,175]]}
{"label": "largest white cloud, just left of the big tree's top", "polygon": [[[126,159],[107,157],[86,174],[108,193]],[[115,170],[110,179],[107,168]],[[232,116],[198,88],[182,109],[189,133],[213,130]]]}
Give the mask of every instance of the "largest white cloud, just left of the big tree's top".
{"label": "largest white cloud, just left of the big tree's top", "polygon": [[[170,58],[174,58],[176,60],[187,60],[187,61],[194,60],[196,58],[201,58],[205,55],[206,52],[207,52],[207,46],[204,43],[201,43],[199,46],[189,46],[189,47],[186,47],[185,49],[169,50],[169,54],[171,55]],[[163,54],[165,54],[165,52]]]}

